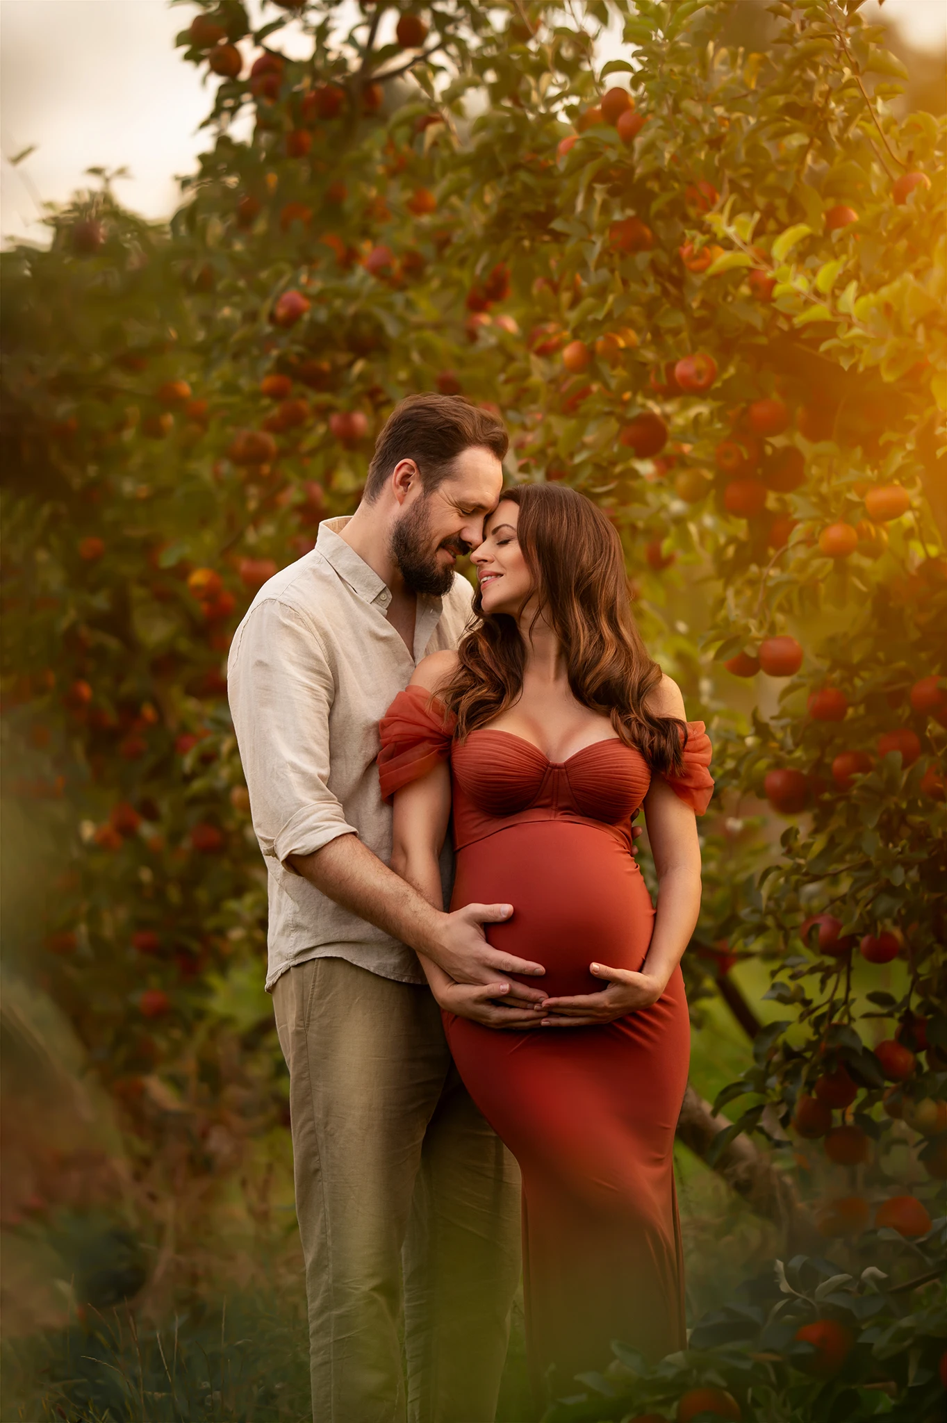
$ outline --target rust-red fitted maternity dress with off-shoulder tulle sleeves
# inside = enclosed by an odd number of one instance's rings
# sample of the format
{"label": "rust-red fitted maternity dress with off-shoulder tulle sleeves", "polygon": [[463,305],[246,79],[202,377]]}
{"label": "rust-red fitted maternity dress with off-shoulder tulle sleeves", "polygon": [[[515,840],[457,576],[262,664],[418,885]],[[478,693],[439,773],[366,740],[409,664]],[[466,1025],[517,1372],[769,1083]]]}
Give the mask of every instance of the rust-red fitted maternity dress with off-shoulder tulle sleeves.
{"label": "rust-red fitted maternity dress with off-shoulder tulle sleeves", "polygon": [[[594,993],[596,961],[640,969],[654,908],[631,855],[651,780],[641,754],[603,740],[549,761],[509,731],[452,739],[442,703],[401,692],[381,723],[385,797],[449,757],[456,878],[451,908],[513,905],[488,925],[498,949],[546,966],[550,996]],[[688,723],[668,777],[700,814],[710,740]],[[526,1346],[537,1399],[601,1369],[621,1339],[650,1359],[681,1349],[684,1279],[674,1128],[690,1025],[680,968],[653,1007],[594,1027],[496,1030],[444,1015],[468,1091],[523,1178]]]}

